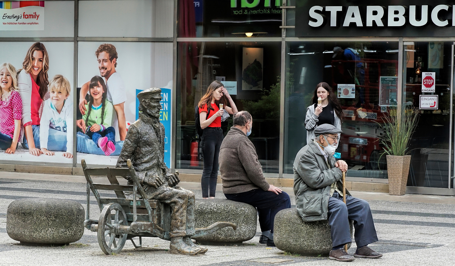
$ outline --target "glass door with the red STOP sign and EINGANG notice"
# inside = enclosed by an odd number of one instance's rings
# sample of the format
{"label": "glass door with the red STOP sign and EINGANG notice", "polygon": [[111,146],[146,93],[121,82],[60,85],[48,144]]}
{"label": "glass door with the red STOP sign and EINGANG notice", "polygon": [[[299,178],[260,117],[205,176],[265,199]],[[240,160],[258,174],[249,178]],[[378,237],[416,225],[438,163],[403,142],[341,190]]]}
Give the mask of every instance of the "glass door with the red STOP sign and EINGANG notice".
{"label": "glass door with the red STOP sign and EINGANG notice", "polygon": [[[434,99],[437,95],[433,104],[436,106],[419,110],[419,122],[410,141],[412,157],[407,186],[448,187],[452,44],[426,41],[404,45],[403,104],[419,109],[422,96]],[[423,92],[426,88],[422,79],[428,72],[433,74],[434,86],[429,84],[428,92]]]}

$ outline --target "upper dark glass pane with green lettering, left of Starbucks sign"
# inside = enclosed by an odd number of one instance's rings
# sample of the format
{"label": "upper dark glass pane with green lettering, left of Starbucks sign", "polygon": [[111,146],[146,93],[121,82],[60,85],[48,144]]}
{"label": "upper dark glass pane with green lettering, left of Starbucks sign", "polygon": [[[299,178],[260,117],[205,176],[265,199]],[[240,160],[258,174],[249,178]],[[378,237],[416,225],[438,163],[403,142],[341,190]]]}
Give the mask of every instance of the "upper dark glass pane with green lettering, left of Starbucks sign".
{"label": "upper dark glass pane with green lettering, left of Starbucks sign", "polygon": [[179,0],[178,37],[280,37],[281,0]]}

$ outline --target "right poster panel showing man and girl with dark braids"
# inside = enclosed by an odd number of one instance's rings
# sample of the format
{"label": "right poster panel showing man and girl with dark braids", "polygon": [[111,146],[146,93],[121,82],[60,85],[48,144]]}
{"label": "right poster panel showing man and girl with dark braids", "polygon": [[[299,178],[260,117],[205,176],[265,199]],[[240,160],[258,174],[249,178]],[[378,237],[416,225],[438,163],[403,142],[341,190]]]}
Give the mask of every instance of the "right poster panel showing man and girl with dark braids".
{"label": "right poster panel showing man and girl with dark braids", "polygon": [[[150,78],[152,47],[143,42],[79,42],[78,49],[77,163],[84,158],[115,165],[128,127],[139,112],[136,90],[155,85]],[[171,99],[170,92],[162,96]],[[162,108],[168,108],[167,103]],[[165,125],[169,121],[170,133],[170,116],[166,113],[162,119]]]}

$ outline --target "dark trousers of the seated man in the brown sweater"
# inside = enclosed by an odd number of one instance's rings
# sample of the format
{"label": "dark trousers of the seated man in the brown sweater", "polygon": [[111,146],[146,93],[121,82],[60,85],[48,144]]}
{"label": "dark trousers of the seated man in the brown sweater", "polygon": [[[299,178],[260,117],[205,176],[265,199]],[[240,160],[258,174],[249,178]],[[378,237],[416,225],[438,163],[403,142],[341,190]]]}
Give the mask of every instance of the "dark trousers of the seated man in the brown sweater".
{"label": "dark trousers of the seated man in the brown sweater", "polygon": [[273,233],[273,221],[278,211],[289,209],[291,200],[286,192],[275,194],[272,191],[253,189],[242,193],[224,194],[228,200],[248,203],[258,208],[259,225],[261,231]]}

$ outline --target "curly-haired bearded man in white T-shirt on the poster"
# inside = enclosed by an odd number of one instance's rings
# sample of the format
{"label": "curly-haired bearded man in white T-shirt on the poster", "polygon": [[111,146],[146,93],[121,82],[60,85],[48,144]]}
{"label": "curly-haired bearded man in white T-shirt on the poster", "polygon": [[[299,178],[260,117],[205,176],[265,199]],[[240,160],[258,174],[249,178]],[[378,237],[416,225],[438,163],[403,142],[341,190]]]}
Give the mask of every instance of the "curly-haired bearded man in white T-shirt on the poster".
{"label": "curly-haired bearded man in white T-shirt on the poster", "polygon": [[[117,66],[117,50],[114,45],[102,44],[95,52],[98,60],[98,68],[100,69],[101,77],[106,80],[107,100],[114,105],[115,114],[112,115],[112,125],[116,129],[116,141],[124,141],[126,136],[126,118],[125,118],[125,101],[126,92],[125,84],[120,74],[116,72]],[[86,82],[81,87],[81,96],[79,99],[79,110],[82,115],[85,115],[85,105],[87,101],[85,96],[89,91],[89,82]]]}

